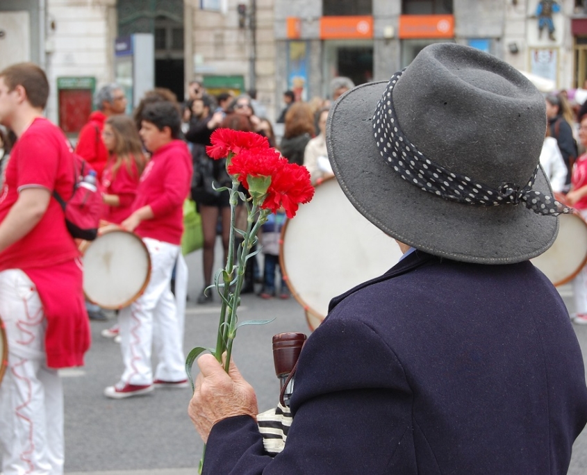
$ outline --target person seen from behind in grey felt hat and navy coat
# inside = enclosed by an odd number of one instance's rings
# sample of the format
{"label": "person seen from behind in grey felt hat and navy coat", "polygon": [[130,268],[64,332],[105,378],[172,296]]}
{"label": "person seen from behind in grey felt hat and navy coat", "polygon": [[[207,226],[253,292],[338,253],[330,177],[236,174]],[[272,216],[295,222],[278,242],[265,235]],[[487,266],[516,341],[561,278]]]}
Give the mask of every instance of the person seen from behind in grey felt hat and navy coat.
{"label": "person seen from behind in grey felt hat and navy coat", "polygon": [[234,365],[199,358],[204,474],[567,472],[587,387],[564,303],[529,262],[571,212],[539,167],[545,125],[524,76],[449,43],[334,104],[333,171],[404,256],[331,301],[281,427],[257,422]]}

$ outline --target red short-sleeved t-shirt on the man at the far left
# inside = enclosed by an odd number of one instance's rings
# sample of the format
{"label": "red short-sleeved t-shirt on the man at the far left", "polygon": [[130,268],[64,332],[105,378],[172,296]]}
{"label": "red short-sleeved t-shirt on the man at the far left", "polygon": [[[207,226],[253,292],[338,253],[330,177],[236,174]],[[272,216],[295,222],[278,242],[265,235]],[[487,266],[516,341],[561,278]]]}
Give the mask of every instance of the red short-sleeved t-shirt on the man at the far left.
{"label": "red short-sleeved t-shirt on the man at the far left", "polygon": [[[47,188],[67,201],[74,187],[74,163],[69,143],[47,119],[35,119],[10,152],[6,181],[0,197],[0,222],[28,187]],[[51,197],[40,222],[24,238],[0,252],[0,271],[49,267],[79,256],[65,227],[63,210]]]}

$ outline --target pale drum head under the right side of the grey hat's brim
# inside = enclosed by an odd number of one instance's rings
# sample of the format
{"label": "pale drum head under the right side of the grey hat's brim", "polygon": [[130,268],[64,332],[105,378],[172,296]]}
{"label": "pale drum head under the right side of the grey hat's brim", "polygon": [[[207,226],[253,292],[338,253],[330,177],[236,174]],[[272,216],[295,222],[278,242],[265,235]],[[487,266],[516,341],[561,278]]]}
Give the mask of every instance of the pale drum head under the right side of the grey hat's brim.
{"label": "pale drum head under the right side of the grey hat's brim", "polygon": [[552,247],[531,262],[554,285],[572,280],[587,261],[587,223],[577,214],[559,217],[559,235]]}

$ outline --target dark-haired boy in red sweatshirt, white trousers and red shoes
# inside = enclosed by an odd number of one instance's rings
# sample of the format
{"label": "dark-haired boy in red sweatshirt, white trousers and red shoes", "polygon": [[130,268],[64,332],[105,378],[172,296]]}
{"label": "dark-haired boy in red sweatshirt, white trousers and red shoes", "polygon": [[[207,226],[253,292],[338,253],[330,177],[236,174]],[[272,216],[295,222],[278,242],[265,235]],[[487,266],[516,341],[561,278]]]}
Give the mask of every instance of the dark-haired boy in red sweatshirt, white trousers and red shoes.
{"label": "dark-haired boy in red sweatshirt, white trousers and red shoes", "polygon": [[[140,137],[151,160],[140,178],[133,213],[122,226],[142,238],[151,257],[147,289],[131,306],[119,313],[124,373],[106,387],[106,397],[122,399],[151,392],[154,387],[187,387],[183,355],[183,309],[171,292],[171,277],[178,263],[176,295],[185,295],[187,281],[181,255],[183,201],[190,192],[192,158],[178,140],[181,116],[174,103],[159,101],[142,111]],[[181,292],[179,292],[181,290]],[[185,299],[183,299],[185,305]],[[153,329],[157,328],[154,333]],[[151,343],[159,364],[151,369]]]}

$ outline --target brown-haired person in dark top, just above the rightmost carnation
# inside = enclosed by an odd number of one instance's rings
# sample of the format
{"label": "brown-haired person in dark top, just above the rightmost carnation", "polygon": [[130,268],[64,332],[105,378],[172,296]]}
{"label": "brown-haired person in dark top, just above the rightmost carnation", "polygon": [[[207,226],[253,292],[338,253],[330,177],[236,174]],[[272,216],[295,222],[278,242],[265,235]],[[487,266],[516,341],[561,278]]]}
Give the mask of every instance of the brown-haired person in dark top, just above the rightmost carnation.
{"label": "brown-haired person in dark top, just above the rightmost carnation", "polygon": [[279,144],[281,155],[290,163],[304,165],[306,145],[315,135],[314,115],[305,102],[296,102],[286,114],[286,126]]}

